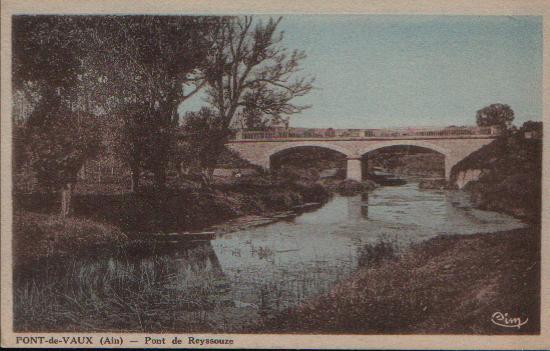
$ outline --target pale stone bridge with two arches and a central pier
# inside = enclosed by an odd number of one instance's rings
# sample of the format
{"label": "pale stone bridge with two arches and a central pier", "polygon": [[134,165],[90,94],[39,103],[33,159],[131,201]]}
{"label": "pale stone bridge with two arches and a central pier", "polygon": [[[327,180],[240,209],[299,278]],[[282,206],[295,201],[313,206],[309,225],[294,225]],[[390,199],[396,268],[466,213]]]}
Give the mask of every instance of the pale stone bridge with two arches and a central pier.
{"label": "pale stone bridge with two arches and a central pier", "polygon": [[472,152],[498,136],[493,127],[443,129],[354,130],[353,135],[312,135],[283,132],[239,132],[227,146],[250,163],[269,169],[271,156],[294,148],[316,146],[337,151],[347,158],[347,179],[362,179],[361,158],[376,149],[389,146],[419,146],[445,157],[445,178],[451,169]]}

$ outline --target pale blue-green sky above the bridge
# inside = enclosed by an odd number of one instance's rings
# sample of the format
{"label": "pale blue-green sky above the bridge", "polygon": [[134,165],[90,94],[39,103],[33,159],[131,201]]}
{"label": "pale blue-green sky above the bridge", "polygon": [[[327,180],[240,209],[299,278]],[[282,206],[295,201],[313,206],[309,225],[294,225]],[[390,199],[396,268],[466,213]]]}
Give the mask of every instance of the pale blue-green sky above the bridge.
{"label": "pale blue-green sky above the bridge", "polygon": [[492,103],[542,119],[541,17],[285,15],[279,29],[316,78],[293,127],[474,125]]}

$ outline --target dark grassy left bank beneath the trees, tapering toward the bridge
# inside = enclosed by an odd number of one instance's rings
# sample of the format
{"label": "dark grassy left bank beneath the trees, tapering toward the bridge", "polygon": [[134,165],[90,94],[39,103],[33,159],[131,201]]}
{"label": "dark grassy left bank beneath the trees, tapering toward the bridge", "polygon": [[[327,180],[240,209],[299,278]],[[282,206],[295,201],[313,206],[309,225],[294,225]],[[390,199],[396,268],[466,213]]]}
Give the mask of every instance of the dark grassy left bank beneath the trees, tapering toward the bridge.
{"label": "dark grassy left bank beneath the trees, tapering toward the bridge", "polygon": [[240,216],[269,216],[322,203],[328,197],[315,182],[256,177],[204,190],[77,194],[74,215],[63,220],[56,213],[55,197],[20,196],[14,211],[14,260],[25,265],[44,257],[95,252],[154,232],[200,230]]}

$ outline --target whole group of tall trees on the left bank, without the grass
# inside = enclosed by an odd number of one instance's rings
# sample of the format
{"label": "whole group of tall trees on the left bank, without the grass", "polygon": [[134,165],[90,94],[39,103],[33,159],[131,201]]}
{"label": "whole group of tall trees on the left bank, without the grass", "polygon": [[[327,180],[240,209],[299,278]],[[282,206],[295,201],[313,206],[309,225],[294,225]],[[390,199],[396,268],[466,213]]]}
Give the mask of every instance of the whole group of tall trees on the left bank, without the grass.
{"label": "whole group of tall trees on the left bank, without the grass", "polygon": [[[157,203],[170,173],[210,187],[235,125],[288,119],[308,107],[294,102],[312,89],[313,79],[299,72],[305,53],[284,47],[280,21],[14,17],[14,97],[26,111],[14,118],[14,178],[32,192],[61,195],[63,217],[96,160],[116,164],[132,193],[151,183]],[[198,91],[202,109],[181,116]]]}

